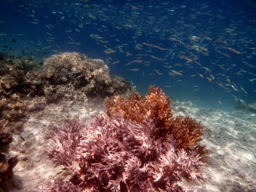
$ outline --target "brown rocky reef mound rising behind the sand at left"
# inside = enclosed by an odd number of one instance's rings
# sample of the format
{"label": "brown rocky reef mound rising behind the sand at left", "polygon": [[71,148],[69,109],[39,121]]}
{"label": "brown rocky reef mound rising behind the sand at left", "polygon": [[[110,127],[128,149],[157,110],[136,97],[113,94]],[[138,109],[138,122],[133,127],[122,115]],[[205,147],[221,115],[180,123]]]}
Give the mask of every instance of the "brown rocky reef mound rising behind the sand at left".
{"label": "brown rocky reef mound rising behind the sand at left", "polygon": [[[134,91],[132,83],[110,75],[102,60],[80,53],[59,53],[44,62],[1,54],[0,69],[0,116],[4,127],[15,127],[27,111],[38,112],[60,100],[104,99]],[[45,97],[46,102],[31,102],[38,96]]]}

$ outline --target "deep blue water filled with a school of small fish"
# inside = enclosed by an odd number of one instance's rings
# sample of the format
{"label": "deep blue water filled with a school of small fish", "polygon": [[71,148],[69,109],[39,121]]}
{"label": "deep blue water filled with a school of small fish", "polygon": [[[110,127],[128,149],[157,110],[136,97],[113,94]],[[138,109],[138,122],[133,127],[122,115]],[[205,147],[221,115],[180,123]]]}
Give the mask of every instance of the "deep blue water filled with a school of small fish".
{"label": "deep blue water filled with a school of small fish", "polygon": [[142,95],[156,85],[196,105],[255,102],[255,1],[120,2],[0,1],[0,51],[100,58]]}

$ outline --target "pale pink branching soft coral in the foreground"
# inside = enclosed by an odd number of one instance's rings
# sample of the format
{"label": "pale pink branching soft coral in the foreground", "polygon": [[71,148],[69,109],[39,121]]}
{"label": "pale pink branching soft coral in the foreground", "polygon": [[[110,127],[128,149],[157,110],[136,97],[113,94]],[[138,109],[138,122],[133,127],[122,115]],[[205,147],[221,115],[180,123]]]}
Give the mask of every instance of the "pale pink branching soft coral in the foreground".
{"label": "pale pink branching soft coral in the foreground", "polygon": [[[172,137],[156,135],[154,121],[145,115],[143,124],[118,115],[98,114],[85,123],[67,122],[48,132],[46,149],[55,164],[76,173],[70,191],[186,191],[182,180],[201,180],[201,156],[177,149]],[[55,191],[57,183],[38,191]],[[188,190],[189,191],[189,190]]]}

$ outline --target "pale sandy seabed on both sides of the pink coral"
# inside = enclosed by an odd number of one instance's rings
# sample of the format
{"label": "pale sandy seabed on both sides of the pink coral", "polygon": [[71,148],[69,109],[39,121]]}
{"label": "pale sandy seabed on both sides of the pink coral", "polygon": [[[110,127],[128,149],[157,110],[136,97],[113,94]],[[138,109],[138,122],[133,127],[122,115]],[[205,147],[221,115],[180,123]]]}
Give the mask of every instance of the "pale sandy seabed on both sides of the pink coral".
{"label": "pale sandy seabed on both sides of the pink coral", "polygon": [[[40,100],[40,98],[38,99]],[[194,191],[256,191],[256,114],[246,110],[223,112],[198,108],[192,102],[172,102],[175,114],[191,116],[206,126],[203,144],[211,151],[203,169],[204,181],[183,183]],[[55,178],[68,178],[70,171],[55,166],[44,149],[46,131],[57,129],[65,120],[86,121],[104,112],[101,101],[72,101],[47,105],[24,119],[21,136],[13,134],[10,154],[18,156],[11,192],[29,192]]]}

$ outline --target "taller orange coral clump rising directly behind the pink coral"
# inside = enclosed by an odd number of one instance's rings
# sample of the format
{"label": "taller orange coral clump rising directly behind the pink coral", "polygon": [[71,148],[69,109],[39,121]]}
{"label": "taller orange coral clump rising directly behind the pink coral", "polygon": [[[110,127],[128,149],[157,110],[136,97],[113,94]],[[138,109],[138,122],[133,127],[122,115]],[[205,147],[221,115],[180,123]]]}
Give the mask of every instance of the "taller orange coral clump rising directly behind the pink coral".
{"label": "taller orange coral clump rising directly behind the pink coral", "polygon": [[115,96],[105,100],[107,114],[112,117],[114,114],[121,114],[124,119],[143,124],[145,115],[153,119],[158,128],[168,129],[168,124],[172,118],[170,100],[164,92],[151,86],[145,98],[134,93],[128,98]]}

